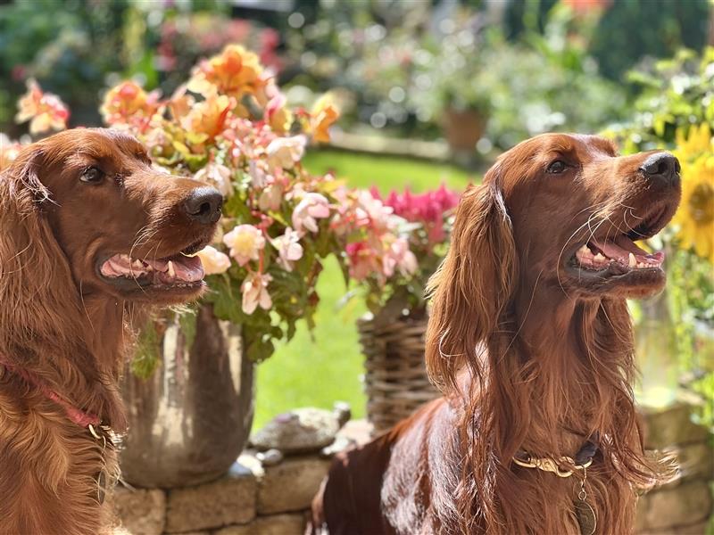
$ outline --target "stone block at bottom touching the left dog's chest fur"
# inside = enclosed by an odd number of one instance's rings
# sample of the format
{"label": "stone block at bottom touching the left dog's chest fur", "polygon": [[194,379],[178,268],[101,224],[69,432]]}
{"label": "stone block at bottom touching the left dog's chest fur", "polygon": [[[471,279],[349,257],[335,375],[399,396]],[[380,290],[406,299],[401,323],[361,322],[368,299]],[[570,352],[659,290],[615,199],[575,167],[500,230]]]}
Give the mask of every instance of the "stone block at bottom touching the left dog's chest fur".
{"label": "stone block at bottom touching the left dog's chest fur", "polygon": [[166,523],[166,495],[163,490],[117,487],[110,499],[124,533],[161,535],[163,532]]}

